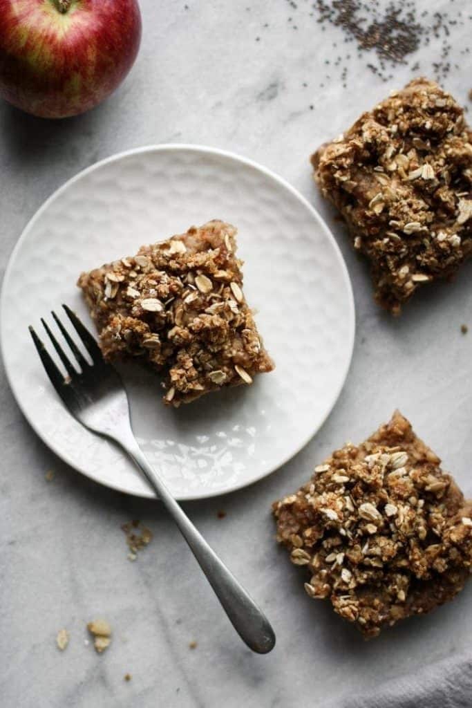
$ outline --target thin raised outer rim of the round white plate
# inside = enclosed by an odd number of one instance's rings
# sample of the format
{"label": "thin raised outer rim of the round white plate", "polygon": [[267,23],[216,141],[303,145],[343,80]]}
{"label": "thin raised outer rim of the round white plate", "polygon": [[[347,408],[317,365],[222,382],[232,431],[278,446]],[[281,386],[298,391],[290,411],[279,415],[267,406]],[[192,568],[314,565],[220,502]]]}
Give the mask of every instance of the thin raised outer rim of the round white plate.
{"label": "thin raised outer rim of the round white plate", "polygon": [[[354,296],[352,293],[352,283],[349,277],[349,273],[347,271],[347,265],[345,263],[345,260],[343,258],[343,254],[340,251],[340,247],[338,246],[337,241],[335,240],[333,234],[330,232],[330,229],[328,228],[327,224],[323,221],[321,215],[318,214],[316,209],[310,204],[310,202],[296,189],[294,188],[287,180],[285,180],[283,177],[278,175],[277,173],[273,172],[269,168],[259,164],[258,162],[247,158],[243,157],[241,155],[238,155],[235,152],[231,152],[229,150],[223,150],[215,147],[207,147],[205,145],[200,145],[200,144],[191,144],[191,143],[160,143],[160,144],[151,144],[151,145],[145,145],[142,147],[137,147],[137,148],[132,148],[129,150],[124,150],[122,152],[117,152],[113,155],[110,155],[109,157],[105,157],[103,160],[99,160],[98,162],[95,162],[94,164],[86,167],[85,169],[79,171],[76,173],[74,176],[69,178],[64,184],[62,184],[57,190],[54,190],[54,192],[45,200],[45,202],[42,202],[42,205],[38,208],[38,210],[35,212],[33,217],[30,218],[28,223],[25,225],[23,231],[21,232],[20,237],[18,238],[18,241],[16,242],[16,245],[13,247],[13,251],[11,251],[10,257],[8,258],[8,263],[6,265],[5,269],[5,274],[4,274],[4,280],[1,286],[1,291],[0,291],[0,353],[1,353],[1,358],[4,362],[4,368],[6,372],[6,379],[8,381],[8,385],[10,386],[11,392],[13,393],[13,397],[16,400],[16,403],[23,413],[23,416],[25,416],[26,420],[30,424],[31,428],[35,431],[36,435],[42,440],[42,442],[45,443],[47,447],[49,447],[52,452],[54,452],[54,455],[57,455],[60,459],[62,459],[63,462],[69,465],[69,467],[72,467],[73,469],[76,469],[77,472],[80,472],[81,474],[84,474],[84,476],[88,477],[88,479],[93,480],[94,482],[101,484],[102,486],[108,487],[108,489],[113,489],[115,491],[119,491],[122,493],[130,494],[132,496],[137,496],[140,498],[155,498],[155,495],[152,491],[149,491],[149,493],[143,492],[138,492],[138,491],[130,491],[129,489],[125,489],[123,486],[120,486],[120,484],[105,484],[101,479],[99,479],[97,476],[91,474],[91,472],[88,469],[84,469],[79,467],[79,465],[76,463],[76,460],[70,459],[67,454],[64,454],[63,450],[59,450],[58,447],[55,445],[54,440],[50,440],[49,438],[43,437],[42,433],[40,433],[40,430],[36,427],[35,424],[35,418],[33,416],[30,416],[25,409],[23,408],[23,404],[21,402],[20,396],[18,392],[16,391],[16,384],[15,384],[15,376],[13,375],[13,372],[9,370],[7,362],[6,362],[6,356],[5,356],[5,336],[4,336],[4,321],[5,321],[5,313],[4,313],[4,301],[5,301],[5,292],[8,287],[8,281],[10,279],[11,275],[11,270],[13,268],[13,263],[16,261],[16,256],[18,251],[21,249],[21,246],[23,246],[23,241],[25,241],[30,234],[30,232],[33,230],[35,227],[36,222],[40,218],[43,212],[47,210],[47,208],[50,206],[54,200],[59,198],[59,196],[71,185],[79,181],[82,177],[86,176],[88,173],[91,173],[95,170],[100,169],[102,166],[110,164],[112,162],[119,162],[120,160],[132,156],[132,155],[137,155],[141,153],[146,153],[146,152],[166,152],[166,151],[191,151],[191,152],[200,152],[202,154],[210,154],[213,156],[220,156],[220,157],[225,157],[230,160],[235,160],[239,163],[245,164],[248,167],[251,167],[252,169],[258,170],[263,175],[266,177],[272,179],[273,181],[279,183],[284,189],[288,190],[292,195],[301,202],[301,205],[303,205],[306,209],[311,212],[311,216],[314,217],[316,222],[318,222],[318,226],[321,227],[323,233],[327,237],[328,241],[330,241],[331,245],[333,246],[334,252],[338,258],[338,264],[340,267],[340,270],[343,274],[343,281],[346,287],[346,292],[348,296],[348,312],[347,312],[347,318],[349,320],[348,326],[349,326],[349,337],[346,342],[346,348],[348,350],[348,356],[345,362],[345,367],[342,372],[342,376],[340,377],[340,383],[338,384],[338,388],[335,390],[335,394],[333,395],[333,401],[328,406],[325,414],[320,418],[320,421],[318,425],[313,428],[311,433],[309,433],[304,440],[302,440],[299,444],[299,446],[294,449],[289,455],[284,457],[284,459],[281,459],[280,462],[273,467],[272,469],[268,471],[264,471],[261,474],[258,474],[258,476],[255,476],[251,481],[246,481],[246,482],[241,482],[241,484],[235,484],[234,486],[231,486],[231,489],[228,490],[216,490],[216,491],[210,491],[209,493],[205,493],[205,491],[201,494],[192,494],[190,496],[178,496],[178,499],[180,501],[195,501],[198,499],[207,499],[207,498],[212,498],[215,496],[221,496],[223,494],[229,494],[233,491],[238,491],[238,489],[243,489],[246,486],[250,486],[251,484],[255,484],[255,482],[260,481],[260,479],[263,479],[266,476],[269,476],[272,474],[272,472],[275,472],[277,469],[280,469],[281,467],[284,466],[284,464],[287,464],[290,459],[295,457],[295,455],[298,455],[298,453],[303,450],[303,448],[309,443],[311,438],[313,438],[316,433],[318,433],[318,430],[321,429],[323,424],[326,422],[326,419],[330,415],[331,411],[333,410],[336,402],[338,401],[338,398],[340,396],[341,391],[343,390],[344,384],[347,379],[347,374],[350,370],[350,365],[352,362],[352,353],[354,350],[354,343],[355,343],[355,303],[354,303]],[[26,325],[25,325],[26,326]],[[139,473],[137,473],[139,474]]]}

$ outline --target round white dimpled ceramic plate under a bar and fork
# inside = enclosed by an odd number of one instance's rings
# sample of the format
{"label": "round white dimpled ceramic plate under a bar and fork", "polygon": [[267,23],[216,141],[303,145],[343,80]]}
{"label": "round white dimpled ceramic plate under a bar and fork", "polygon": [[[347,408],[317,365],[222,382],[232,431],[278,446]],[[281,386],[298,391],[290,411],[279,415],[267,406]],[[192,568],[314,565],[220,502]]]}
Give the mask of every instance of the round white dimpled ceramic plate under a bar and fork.
{"label": "round white dimpled ceramic plate under a bar and fork", "polygon": [[63,408],[28,325],[66,302],[91,326],[81,270],[224,219],[238,227],[244,290],[276,370],[174,411],[151,375],[127,379],[142,449],[179,499],[213,496],[269,474],[316,433],[350,365],[355,317],[343,257],[289,184],[227,152],[159,145],[114,156],[57,190],[13,251],[1,297],[1,345],[23,413],[62,459],[91,479],[152,496],[129,459]]}

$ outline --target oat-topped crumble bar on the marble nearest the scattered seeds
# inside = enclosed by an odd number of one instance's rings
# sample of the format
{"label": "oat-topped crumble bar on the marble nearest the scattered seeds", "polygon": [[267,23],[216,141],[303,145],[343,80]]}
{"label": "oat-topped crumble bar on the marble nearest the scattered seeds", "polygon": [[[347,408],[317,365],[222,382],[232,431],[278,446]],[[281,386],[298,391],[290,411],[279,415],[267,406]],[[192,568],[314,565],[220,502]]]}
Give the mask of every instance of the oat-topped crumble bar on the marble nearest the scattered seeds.
{"label": "oat-topped crumble bar on the marble nearest the scattered seeds", "polygon": [[338,207],[393,314],[472,252],[472,131],[433,81],[414,79],[313,154],[321,193]]}

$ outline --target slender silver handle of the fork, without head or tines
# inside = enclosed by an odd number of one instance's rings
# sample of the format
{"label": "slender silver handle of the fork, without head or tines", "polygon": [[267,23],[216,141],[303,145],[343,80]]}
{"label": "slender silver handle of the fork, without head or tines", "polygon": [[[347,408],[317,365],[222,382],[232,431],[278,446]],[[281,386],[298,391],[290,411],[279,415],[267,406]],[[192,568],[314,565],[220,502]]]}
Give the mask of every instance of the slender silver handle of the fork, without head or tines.
{"label": "slender silver handle of the fork, without head or tines", "polygon": [[161,499],[163,505],[173,517],[190,546],[200,568],[207,576],[231,624],[241,639],[253,651],[265,654],[275,645],[274,630],[262,610],[238,583],[234,575],[226,568],[214,550],[197,531],[188,516],[175,501],[159,474],[149,464],[134,437],[127,442],[119,441],[125,452],[132,457],[149,484]]}

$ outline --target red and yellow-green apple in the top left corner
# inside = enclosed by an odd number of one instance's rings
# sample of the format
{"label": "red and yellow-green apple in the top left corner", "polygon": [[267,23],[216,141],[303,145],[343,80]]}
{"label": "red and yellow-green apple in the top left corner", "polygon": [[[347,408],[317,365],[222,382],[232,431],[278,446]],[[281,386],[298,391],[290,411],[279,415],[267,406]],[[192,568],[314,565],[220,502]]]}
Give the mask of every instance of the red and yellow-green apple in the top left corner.
{"label": "red and yellow-green apple in the top left corner", "polygon": [[137,0],[0,0],[0,96],[41,118],[116,89],[141,41]]}

